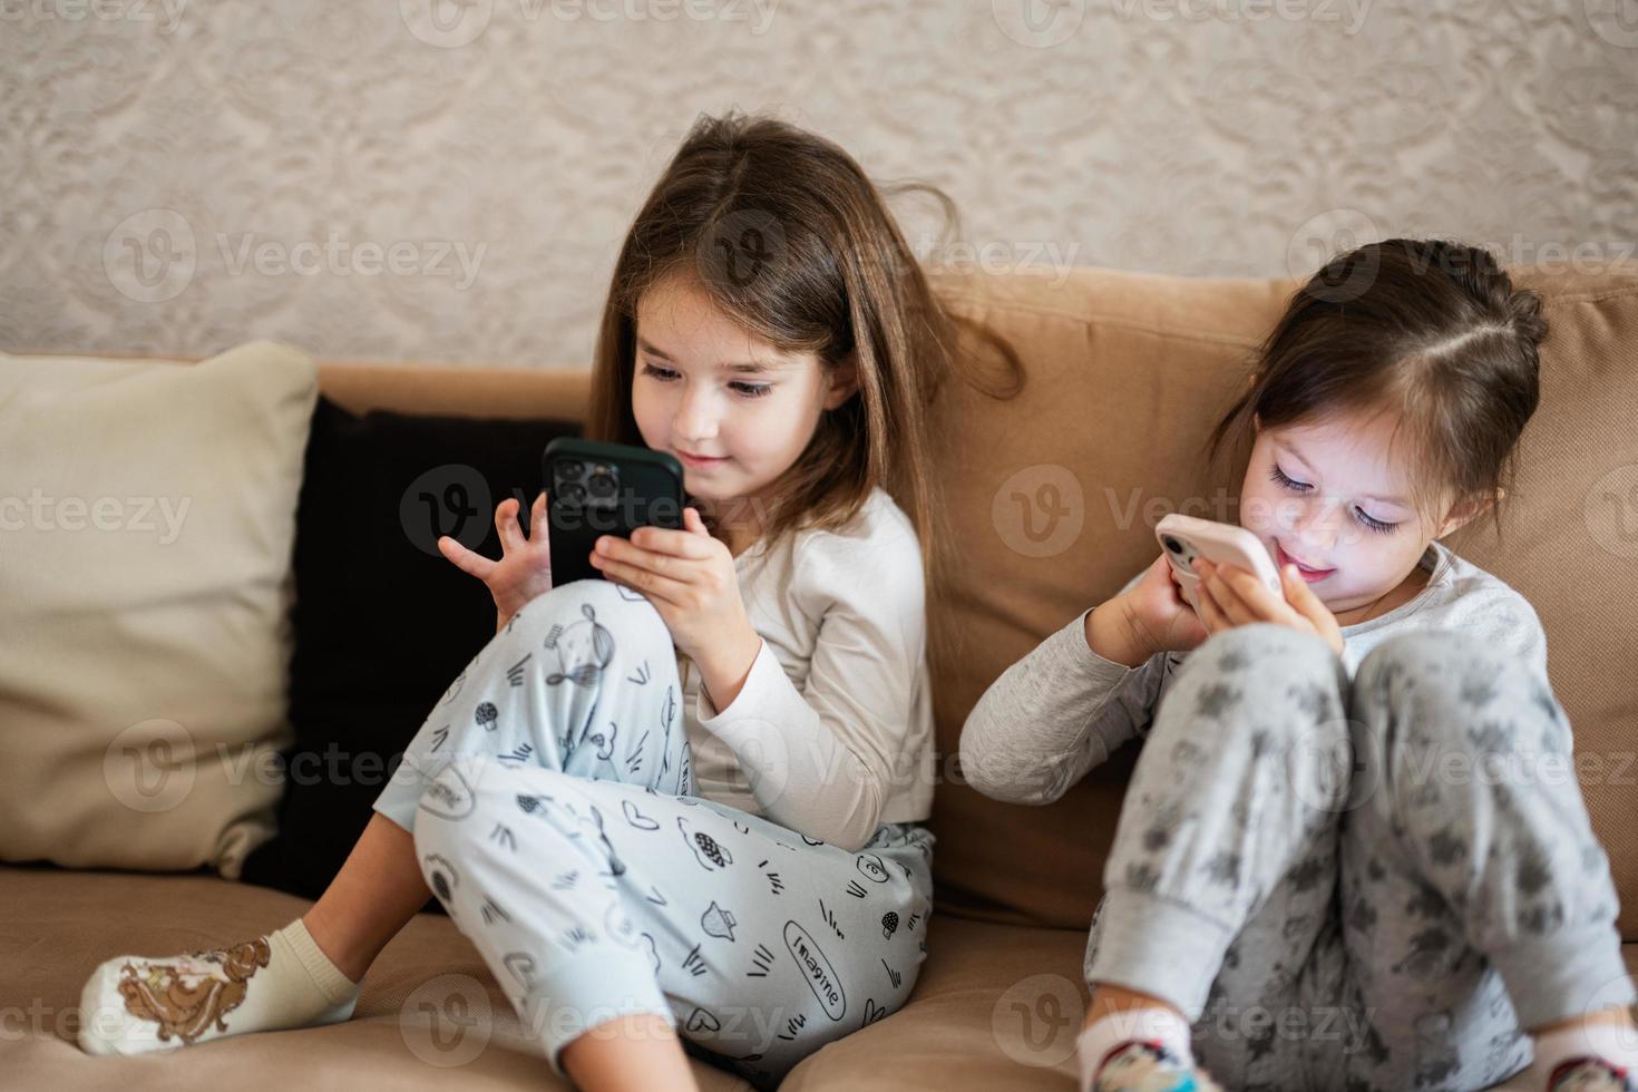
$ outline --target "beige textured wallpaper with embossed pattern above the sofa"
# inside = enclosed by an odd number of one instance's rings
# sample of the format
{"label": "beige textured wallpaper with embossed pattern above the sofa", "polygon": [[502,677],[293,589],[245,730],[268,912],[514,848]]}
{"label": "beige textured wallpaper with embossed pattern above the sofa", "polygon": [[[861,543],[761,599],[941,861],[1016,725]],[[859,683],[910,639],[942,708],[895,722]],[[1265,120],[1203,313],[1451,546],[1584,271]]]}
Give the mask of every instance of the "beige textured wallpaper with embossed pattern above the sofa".
{"label": "beige textured wallpaper with embossed pattern above the sofa", "polygon": [[729,106],[943,187],[953,264],[1638,236],[1635,0],[0,0],[0,347],[580,365]]}

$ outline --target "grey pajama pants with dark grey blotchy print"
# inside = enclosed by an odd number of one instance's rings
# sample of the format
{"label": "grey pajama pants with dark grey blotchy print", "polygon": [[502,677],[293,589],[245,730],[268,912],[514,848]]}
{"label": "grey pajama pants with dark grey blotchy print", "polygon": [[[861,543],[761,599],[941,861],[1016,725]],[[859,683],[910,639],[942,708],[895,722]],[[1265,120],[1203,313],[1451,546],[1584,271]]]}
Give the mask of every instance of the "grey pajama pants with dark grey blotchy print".
{"label": "grey pajama pants with dark grey blotchy print", "polygon": [[1350,681],[1260,624],[1179,665],[1138,755],[1089,982],[1174,1004],[1230,1089],[1484,1089],[1633,987],[1546,679],[1453,634]]}

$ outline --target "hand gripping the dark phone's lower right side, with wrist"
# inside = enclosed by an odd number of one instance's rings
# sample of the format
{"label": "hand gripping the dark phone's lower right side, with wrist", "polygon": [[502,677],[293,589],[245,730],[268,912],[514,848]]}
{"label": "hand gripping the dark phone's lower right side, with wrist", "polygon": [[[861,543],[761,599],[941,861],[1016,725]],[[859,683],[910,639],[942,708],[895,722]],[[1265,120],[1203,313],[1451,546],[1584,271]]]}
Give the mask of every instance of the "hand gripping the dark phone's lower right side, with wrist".
{"label": "hand gripping the dark phone's lower right side, with wrist", "polygon": [[750,675],[762,637],[739,598],[734,555],[711,537],[699,512],[683,509],[683,530],[637,527],[629,540],[601,535],[591,565],[655,606],[672,642],[699,665],[717,712],[727,709]]}

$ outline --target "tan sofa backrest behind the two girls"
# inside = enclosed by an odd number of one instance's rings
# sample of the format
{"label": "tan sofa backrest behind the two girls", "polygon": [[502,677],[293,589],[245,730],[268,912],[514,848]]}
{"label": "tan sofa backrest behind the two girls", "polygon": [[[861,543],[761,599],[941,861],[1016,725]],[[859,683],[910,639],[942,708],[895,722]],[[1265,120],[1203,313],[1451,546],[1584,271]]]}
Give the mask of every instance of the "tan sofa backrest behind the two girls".
{"label": "tan sofa backrest behind the two girls", "polygon": [[[1638,267],[1517,270],[1545,296],[1541,408],[1517,493],[1448,545],[1536,607],[1548,670],[1576,733],[1594,827],[1638,940]],[[1235,519],[1243,463],[1206,467],[1209,426],[1296,285],[1111,270],[939,275],[962,314],[1007,337],[1024,390],[950,385],[935,413],[945,519],[958,563],[929,624],[958,635],[934,661],[940,910],[1084,928],[1137,747],[1061,801],[1020,807],[963,784],[962,724],[984,688],[1047,634],[1153,560],[1168,511]],[[975,345],[976,342],[968,342]],[[976,352],[976,349],[970,349]],[[585,372],[326,363],[355,413],[577,416]]]}

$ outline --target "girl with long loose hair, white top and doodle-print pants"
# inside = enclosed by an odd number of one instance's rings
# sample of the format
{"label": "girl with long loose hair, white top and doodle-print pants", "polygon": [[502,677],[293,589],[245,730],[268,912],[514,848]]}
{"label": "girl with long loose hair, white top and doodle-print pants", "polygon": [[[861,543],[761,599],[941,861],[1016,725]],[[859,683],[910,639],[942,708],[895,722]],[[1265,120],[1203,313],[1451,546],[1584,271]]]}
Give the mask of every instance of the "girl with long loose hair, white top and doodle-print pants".
{"label": "girl with long loose hair, white top and doodle-print pants", "polygon": [[[496,509],[500,562],[441,542],[493,642],[324,896],[179,1040],[347,1018],[429,892],[588,1089],[693,1087],[685,1046],[771,1087],[899,1009],[932,910],[925,419],[955,327],[842,149],[701,120],[621,247],[590,422],[681,460],[685,529],[604,537],[606,580],[562,586],[544,494],[532,535]],[[103,964],[82,1045],[167,1045],[129,979],[210,954]]]}

